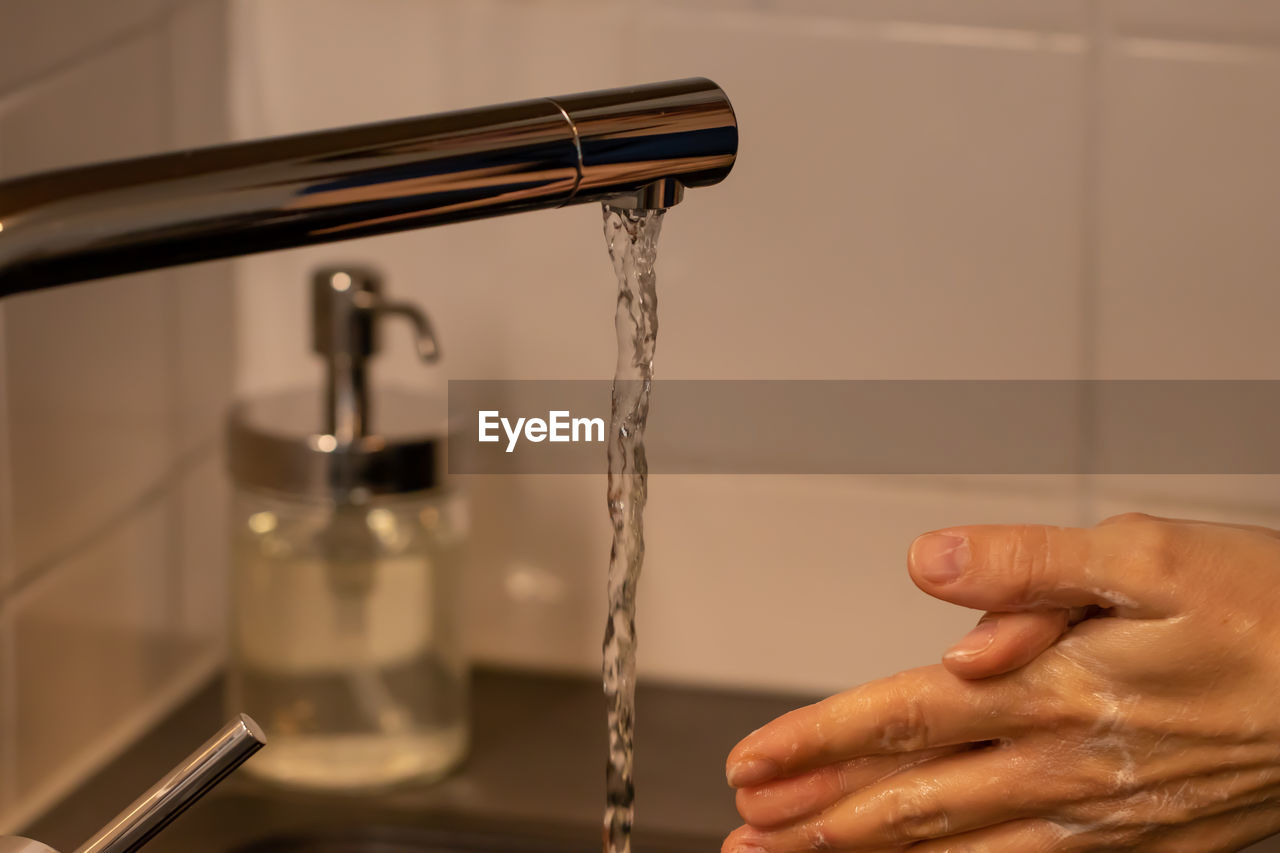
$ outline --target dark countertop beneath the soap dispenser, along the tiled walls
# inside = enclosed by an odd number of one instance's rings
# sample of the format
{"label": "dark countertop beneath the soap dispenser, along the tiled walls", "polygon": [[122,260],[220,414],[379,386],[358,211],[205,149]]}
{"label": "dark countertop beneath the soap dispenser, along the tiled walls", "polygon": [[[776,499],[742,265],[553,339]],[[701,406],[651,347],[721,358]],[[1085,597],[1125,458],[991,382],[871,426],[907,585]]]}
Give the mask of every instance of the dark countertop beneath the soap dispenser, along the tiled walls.
{"label": "dark countertop beneath the soap dispenser, along the tiled walls", "polygon": [[[421,840],[399,845],[385,840],[402,830],[421,839],[445,833],[451,844],[457,833],[493,835],[490,841],[449,849],[599,850],[607,740],[599,680],[477,670],[472,697],[470,757],[435,785],[365,797],[312,795],[280,792],[237,772],[151,841],[147,852],[422,849]],[[728,749],[763,722],[808,701],[641,683],[636,695],[636,850],[718,849],[724,834],[740,822],[724,784]],[[55,849],[76,849],[200,745],[223,716],[221,684],[215,681],[24,834]],[[384,841],[255,847],[262,839],[314,834],[329,839],[371,834]]]}

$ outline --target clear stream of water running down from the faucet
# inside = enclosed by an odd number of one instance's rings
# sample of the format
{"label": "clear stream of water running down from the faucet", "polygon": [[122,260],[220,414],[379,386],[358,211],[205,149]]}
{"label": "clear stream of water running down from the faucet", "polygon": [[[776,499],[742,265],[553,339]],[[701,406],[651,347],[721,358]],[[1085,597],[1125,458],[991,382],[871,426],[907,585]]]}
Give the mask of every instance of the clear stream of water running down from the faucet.
{"label": "clear stream of water running down from the faucet", "polygon": [[604,811],[605,853],[631,853],[635,816],[632,752],[635,733],[635,605],[644,564],[644,505],[648,462],[644,426],[649,416],[653,351],[658,337],[658,293],[653,264],[662,231],[660,210],[620,210],[604,205],[604,238],[618,277],[618,365],[609,416],[609,616],[604,626],[604,695],[609,713],[609,765]]}

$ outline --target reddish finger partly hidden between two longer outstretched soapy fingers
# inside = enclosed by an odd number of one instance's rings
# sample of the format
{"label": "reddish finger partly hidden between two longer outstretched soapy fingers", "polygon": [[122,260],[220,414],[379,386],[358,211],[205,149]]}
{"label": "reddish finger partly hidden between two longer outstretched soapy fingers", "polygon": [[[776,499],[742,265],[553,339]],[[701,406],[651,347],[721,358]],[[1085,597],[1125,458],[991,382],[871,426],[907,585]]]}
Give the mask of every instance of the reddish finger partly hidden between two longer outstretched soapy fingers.
{"label": "reddish finger partly hidden between two longer outstretched soapy fingers", "polygon": [[964,747],[941,747],[895,756],[867,756],[818,767],[799,776],[776,779],[737,792],[737,813],[755,827],[777,826],[827,808],[850,792]]}

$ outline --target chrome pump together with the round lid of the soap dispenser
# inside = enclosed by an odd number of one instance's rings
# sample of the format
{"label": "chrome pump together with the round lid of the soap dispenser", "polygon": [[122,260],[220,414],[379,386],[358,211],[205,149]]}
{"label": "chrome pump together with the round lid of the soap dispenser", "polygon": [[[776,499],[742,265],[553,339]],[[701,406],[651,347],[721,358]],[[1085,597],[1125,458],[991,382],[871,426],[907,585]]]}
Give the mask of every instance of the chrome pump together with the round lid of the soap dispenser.
{"label": "chrome pump together with the round lid of the soap dispenser", "polygon": [[325,361],[324,391],[237,405],[228,424],[232,476],[283,494],[349,502],[439,487],[444,406],[412,394],[371,393],[367,375],[379,348],[379,320],[387,316],[412,323],[422,361],[439,359],[426,315],[384,298],[378,273],[362,266],[317,270],[311,288],[311,348]]}

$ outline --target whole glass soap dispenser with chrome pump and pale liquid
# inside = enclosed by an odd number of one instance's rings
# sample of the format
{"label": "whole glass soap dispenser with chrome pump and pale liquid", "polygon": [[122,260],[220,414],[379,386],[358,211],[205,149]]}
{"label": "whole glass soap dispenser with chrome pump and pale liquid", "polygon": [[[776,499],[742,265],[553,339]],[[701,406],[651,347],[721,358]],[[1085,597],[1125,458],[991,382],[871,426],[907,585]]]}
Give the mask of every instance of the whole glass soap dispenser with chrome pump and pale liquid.
{"label": "whole glass soap dispenser with chrome pump and pale liquid", "polygon": [[468,740],[458,571],[465,506],[443,480],[436,401],[371,393],[388,302],[367,269],[320,270],[312,348],[323,393],[238,403],[228,701],[266,730],[246,770],[288,785],[360,790],[445,775]]}

